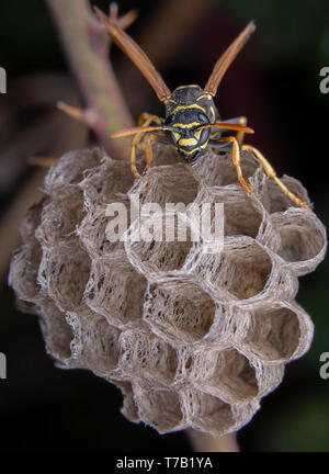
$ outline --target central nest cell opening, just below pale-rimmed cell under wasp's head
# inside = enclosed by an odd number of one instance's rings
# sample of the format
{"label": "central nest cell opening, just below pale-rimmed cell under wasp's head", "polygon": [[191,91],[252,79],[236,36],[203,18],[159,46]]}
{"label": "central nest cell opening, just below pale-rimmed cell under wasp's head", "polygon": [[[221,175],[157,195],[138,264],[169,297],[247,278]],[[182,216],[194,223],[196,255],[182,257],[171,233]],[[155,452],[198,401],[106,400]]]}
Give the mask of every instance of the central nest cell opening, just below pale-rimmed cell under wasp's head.
{"label": "central nest cell opening, just below pale-rimmed cell under wasp's head", "polygon": [[196,342],[209,331],[215,303],[192,282],[170,282],[149,287],[145,319],[174,341]]}

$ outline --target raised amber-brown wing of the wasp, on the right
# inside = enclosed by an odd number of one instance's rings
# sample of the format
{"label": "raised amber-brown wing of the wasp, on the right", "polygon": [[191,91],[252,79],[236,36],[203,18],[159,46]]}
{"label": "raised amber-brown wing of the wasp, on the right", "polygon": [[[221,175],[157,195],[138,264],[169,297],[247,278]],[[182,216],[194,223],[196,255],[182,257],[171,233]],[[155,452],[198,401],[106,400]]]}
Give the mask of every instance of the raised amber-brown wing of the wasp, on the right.
{"label": "raised amber-brown wing of the wasp, on the right", "polygon": [[252,20],[248,23],[245,30],[239,34],[239,36],[231,43],[231,45],[226,49],[226,52],[219,57],[213,72],[209,76],[209,79],[205,86],[205,91],[211,93],[212,95],[216,95],[218,86],[225,76],[225,72],[232,64],[238,53],[242,49],[250,35],[254,32],[256,24]]}

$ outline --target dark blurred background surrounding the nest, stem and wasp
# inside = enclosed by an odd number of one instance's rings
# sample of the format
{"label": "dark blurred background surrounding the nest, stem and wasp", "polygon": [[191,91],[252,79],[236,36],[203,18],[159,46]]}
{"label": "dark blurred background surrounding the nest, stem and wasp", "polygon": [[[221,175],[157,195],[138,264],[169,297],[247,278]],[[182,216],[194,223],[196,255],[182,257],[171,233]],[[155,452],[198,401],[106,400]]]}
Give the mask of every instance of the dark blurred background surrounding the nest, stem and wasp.
{"label": "dark blurred background surrounding the nest, stem and wasp", "polygon": [[[303,182],[327,225],[329,93],[319,90],[319,72],[329,67],[328,1],[185,1],[190,21],[167,22],[155,41],[151,30],[170,3],[118,1],[123,13],[139,11],[129,34],[149,53],[170,89],[204,86],[219,54],[256,20],[257,32],[223,80],[216,104],[224,119],[248,116],[256,129],[248,143],[264,153],[279,176]],[[101,0],[92,4],[109,7]],[[80,98],[46,2],[3,0],[0,11],[0,66],[8,74],[8,93],[0,95],[0,352],[8,361],[8,377],[0,380],[0,451],[191,450],[183,432],[159,436],[126,421],[114,386],[87,371],[56,369],[45,353],[37,319],[15,309],[7,287],[7,249],[16,239],[20,210],[39,183],[26,160],[79,146],[79,128],[55,111],[55,103]],[[167,48],[166,37],[178,25],[182,35],[177,47]],[[112,53],[134,119],[143,111],[161,115],[161,103],[140,74],[116,48]],[[315,323],[313,346],[286,366],[283,383],[239,431],[242,451],[329,451],[329,379],[319,375],[320,354],[329,352],[328,280],[328,259],[300,279],[297,302]]]}

